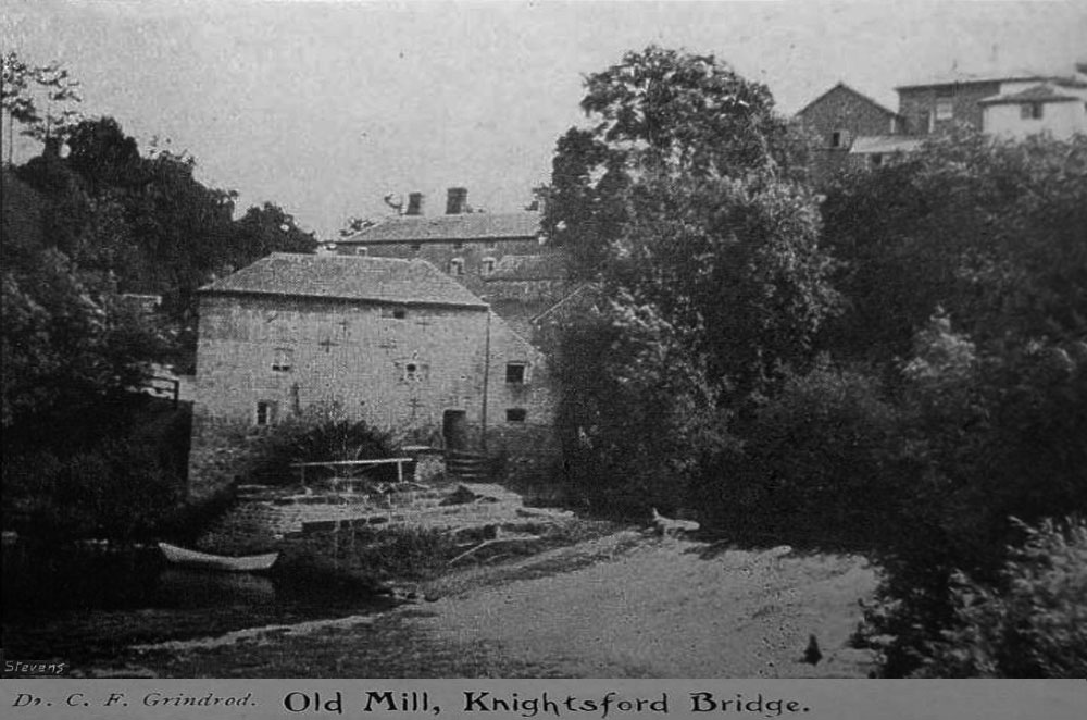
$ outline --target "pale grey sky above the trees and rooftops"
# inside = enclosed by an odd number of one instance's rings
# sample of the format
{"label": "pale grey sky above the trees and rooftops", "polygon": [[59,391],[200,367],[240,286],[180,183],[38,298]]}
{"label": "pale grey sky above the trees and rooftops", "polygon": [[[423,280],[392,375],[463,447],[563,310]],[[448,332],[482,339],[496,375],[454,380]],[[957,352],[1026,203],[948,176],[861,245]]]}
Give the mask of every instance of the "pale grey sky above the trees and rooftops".
{"label": "pale grey sky above the trees and rooftops", "polygon": [[[1087,0],[1033,2],[118,2],[0,0],[2,51],[60,61],[87,116],[170,140],[205,184],[332,238],[387,194],[468,188],[518,210],[584,124],[586,74],[650,44],[713,53],[791,114],[842,80],[897,85],[1087,60]],[[16,149],[15,162],[37,153]]]}

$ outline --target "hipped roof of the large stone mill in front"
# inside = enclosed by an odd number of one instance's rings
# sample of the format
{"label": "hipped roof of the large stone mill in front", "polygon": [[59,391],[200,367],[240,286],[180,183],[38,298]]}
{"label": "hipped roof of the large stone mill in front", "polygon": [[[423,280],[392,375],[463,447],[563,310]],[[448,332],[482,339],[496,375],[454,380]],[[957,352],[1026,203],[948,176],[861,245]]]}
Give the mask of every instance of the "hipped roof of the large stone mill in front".
{"label": "hipped roof of the large stone mill in front", "polygon": [[425,260],[358,256],[274,252],[200,291],[480,310],[488,307]]}

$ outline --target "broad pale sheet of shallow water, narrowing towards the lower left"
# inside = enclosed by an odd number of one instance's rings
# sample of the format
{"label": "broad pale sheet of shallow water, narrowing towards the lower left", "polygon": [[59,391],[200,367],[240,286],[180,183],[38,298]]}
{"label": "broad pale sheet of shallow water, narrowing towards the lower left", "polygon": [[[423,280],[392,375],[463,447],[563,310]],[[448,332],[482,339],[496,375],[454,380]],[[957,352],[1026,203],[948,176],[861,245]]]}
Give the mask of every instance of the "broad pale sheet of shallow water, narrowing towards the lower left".
{"label": "broad pale sheet of shallow water, narrowing towards the lower left", "polygon": [[[243,642],[146,648],[165,676],[865,676],[846,647],[863,558],[716,548],[623,531],[420,588],[435,601]],[[800,662],[810,634],[823,654]]]}

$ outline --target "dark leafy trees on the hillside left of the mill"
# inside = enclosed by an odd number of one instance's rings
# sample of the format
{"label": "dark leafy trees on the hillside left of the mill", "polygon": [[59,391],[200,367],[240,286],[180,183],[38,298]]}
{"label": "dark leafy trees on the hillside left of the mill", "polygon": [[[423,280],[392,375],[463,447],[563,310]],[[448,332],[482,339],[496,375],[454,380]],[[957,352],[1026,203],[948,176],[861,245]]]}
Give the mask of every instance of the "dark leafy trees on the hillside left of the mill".
{"label": "dark leafy trees on the hillside left of the mill", "polygon": [[[5,426],[123,393],[148,361],[184,361],[200,285],[315,246],[272,203],[235,221],[235,193],[199,182],[189,156],[141,154],[112,117],[79,122],[66,141],[66,157],[4,171]],[[168,327],[148,326],[125,293],[163,296]]]}

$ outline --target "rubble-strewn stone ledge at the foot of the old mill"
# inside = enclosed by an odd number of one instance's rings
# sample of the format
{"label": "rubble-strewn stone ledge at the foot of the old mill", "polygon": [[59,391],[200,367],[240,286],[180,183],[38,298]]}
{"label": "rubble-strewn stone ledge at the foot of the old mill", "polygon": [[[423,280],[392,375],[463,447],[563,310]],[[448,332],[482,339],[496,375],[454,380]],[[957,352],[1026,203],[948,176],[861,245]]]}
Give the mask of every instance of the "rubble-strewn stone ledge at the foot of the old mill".
{"label": "rubble-strewn stone ledge at the foot of the old mill", "polygon": [[333,479],[318,488],[242,485],[238,501],[197,541],[224,555],[320,546],[329,534],[354,537],[392,529],[451,532],[465,537],[532,534],[573,513],[526,508],[493,483],[373,483]]}

